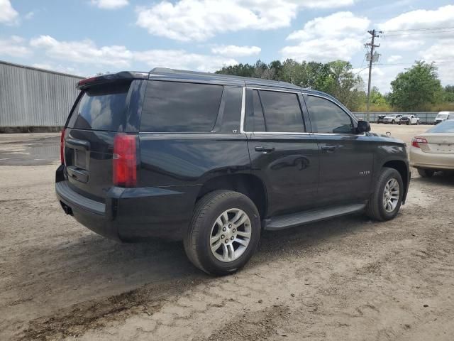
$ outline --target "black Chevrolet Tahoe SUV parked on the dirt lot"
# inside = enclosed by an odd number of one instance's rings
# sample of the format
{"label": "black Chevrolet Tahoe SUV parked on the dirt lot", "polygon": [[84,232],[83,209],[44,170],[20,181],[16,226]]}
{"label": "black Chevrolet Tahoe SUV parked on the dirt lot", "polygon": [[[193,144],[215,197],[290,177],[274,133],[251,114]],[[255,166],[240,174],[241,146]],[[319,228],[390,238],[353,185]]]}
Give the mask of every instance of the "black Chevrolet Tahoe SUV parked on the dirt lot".
{"label": "black Chevrolet Tahoe SUV parked on the dirt lot", "polygon": [[323,92],[170,69],[77,87],[56,174],[63,210],[119,241],[183,240],[207,273],[243,266],[262,229],[360,211],[389,220],[405,201],[405,144]]}

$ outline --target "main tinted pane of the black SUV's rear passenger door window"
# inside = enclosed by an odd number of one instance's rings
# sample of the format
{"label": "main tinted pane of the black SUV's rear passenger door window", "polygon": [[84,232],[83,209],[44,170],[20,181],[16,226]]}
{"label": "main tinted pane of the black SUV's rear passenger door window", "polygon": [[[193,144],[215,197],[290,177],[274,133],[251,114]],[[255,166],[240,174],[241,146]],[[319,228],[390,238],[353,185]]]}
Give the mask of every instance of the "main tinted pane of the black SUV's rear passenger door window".
{"label": "main tinted pane of the black SUV's rear passenger door window", "polygon": [[290,92],[260,90],[266,131],[304,132],[298,96]]}

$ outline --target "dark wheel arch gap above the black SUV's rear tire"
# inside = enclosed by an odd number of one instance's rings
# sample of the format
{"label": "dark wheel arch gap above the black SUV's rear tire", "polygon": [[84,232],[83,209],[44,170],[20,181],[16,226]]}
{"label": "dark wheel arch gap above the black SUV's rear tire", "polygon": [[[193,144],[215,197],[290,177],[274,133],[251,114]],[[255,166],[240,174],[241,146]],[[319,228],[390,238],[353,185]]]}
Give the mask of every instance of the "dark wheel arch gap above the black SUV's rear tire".
{"label": "dark wheel arch gap above the black SUV's rear tire", "polygon": [[267,214],[267,192],[265,183],[252,174],[219,175],[206,180],[196,197],[196,202],[214,190],[233,190],[250,198],[257,207],[260,217]]}

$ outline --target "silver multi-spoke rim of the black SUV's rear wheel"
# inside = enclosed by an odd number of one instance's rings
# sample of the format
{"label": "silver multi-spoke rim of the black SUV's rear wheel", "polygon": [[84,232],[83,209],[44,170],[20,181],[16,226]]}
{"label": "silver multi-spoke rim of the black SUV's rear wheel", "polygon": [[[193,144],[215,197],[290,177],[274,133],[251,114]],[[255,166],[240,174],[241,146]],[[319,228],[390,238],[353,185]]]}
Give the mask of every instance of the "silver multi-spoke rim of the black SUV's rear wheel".
{"label": "silver multi-spoke rim of the black SUV's rear wheel", "polygon": [[218,261],[235,261],[248,248],[251,231],[250,219],[243,210],[222,212],[211,227],[211,253]]}

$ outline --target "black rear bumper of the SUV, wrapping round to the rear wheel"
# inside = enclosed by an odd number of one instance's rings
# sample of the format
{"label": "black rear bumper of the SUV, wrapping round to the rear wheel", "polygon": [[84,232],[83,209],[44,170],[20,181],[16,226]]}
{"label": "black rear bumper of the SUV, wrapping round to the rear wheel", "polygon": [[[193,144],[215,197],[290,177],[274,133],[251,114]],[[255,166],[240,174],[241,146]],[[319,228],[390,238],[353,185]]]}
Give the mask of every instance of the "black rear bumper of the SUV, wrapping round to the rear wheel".
{"label": "black rear bumper of the SUV, wrapping round to the rear wheel", "polygon": [[[59,168],[60,170],[60,168]],[[61,171],[61,170],[60,170]],[[106,193],[105,202],[75,192],[58,175],[55,193],[63,210],[93,232],[121,242],[160,237],[181,240],[192,217],[198,189],[119,188]]]}

